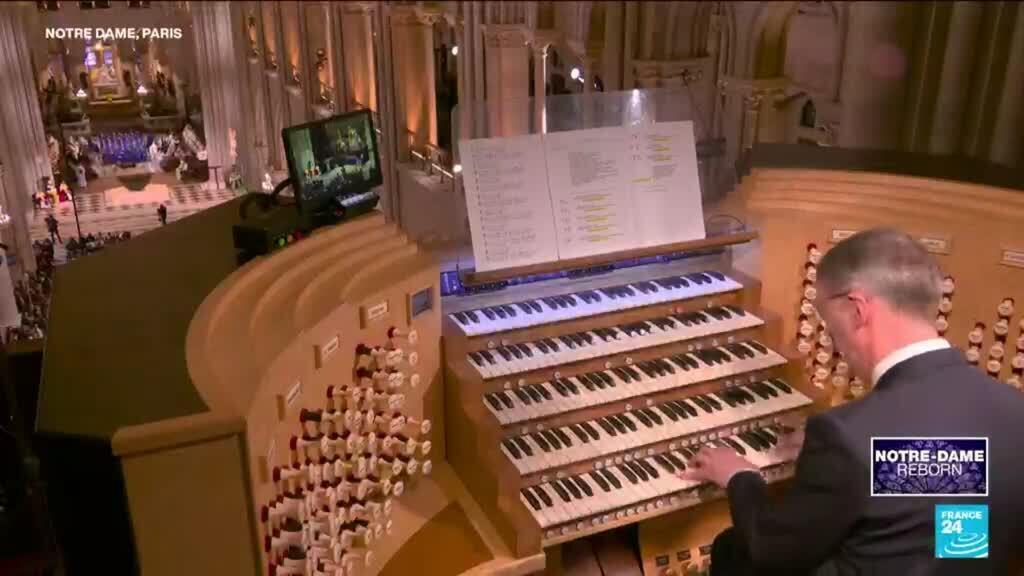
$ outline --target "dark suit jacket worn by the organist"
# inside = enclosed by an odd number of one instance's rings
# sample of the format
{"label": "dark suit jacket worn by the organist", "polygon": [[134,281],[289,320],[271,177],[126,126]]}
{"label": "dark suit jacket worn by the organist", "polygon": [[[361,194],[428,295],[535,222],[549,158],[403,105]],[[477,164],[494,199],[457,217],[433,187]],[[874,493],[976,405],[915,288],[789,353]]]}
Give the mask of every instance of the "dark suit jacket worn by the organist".
{"label": "dark suit jacket worn by the organist", "polygon": [[[872,436],[987,437],[988,497],[871,497]],[[1009,574],[1010,554],[1024,542],[1024,395],[967,364],[958,349],[915,356],[861,400],[808,419],[781,498],[770,500],[751,472],[735,475],[728,495],[758,574]],[[942,503],[988,504],[987,560],[934,558]]]}

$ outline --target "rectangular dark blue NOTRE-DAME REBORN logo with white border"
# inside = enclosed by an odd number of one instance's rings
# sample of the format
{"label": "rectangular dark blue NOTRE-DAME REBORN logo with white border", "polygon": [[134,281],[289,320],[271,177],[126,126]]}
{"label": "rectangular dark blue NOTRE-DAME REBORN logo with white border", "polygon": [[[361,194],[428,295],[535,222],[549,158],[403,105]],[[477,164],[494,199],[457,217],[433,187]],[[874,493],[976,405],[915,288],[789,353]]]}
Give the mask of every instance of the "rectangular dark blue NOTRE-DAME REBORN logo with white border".
{"label": "rectangular dark blue NOTRE-DAME REBORN logo with white border", "polygon": [[987,438],[871,439],[871,496],[987,495]]}

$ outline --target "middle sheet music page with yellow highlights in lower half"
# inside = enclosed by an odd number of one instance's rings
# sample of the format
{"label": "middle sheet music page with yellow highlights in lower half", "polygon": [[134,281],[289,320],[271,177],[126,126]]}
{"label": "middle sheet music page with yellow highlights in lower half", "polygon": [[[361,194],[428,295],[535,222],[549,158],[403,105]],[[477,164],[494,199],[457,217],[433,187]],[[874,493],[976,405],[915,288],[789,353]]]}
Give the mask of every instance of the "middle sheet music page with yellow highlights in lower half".
{"label": "middle sheet music page with yellow highlights in lower half", "polygon": [[559,258],[633,247],[632,167],[623,129],[553,132],[545,135],[544,145]]}

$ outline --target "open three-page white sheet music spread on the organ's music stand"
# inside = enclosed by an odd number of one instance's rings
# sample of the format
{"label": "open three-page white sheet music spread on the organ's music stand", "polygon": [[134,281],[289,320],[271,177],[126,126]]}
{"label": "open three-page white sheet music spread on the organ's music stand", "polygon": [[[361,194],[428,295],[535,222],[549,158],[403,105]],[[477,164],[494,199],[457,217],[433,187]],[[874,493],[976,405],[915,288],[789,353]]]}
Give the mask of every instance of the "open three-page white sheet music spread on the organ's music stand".
{"label": "open three-page white sheet music spread on the organ's music stand", "polygon": [[459,146],[477,272],[706,237],[692,122]]}

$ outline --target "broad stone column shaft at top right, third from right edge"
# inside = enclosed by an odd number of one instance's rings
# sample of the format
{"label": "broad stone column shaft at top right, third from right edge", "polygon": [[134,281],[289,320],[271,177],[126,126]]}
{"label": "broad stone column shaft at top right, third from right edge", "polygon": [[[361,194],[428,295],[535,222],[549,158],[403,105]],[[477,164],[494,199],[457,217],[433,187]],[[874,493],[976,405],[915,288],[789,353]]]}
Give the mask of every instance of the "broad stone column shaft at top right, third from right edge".
{"label": "broad stone column shaft at top right, third from right edge", "polygon": [[852,2],[849,17],[839,145],[897,150],[904,123],[913,7],[906,2]]}

